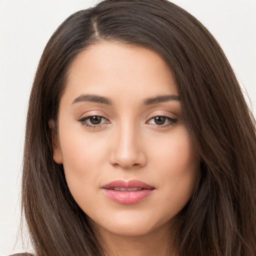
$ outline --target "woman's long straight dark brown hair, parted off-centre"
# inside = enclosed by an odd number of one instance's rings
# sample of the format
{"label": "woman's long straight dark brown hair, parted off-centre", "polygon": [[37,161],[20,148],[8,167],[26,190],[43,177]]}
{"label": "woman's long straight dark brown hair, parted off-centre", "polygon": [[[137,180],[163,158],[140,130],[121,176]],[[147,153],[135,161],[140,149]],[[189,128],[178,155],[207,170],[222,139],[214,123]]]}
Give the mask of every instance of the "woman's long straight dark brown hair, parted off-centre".
{"label": "woman's long straight dark brown hair, parted off-centre", "polygon": [[48,125],[70,63],[102,40],[149,47],[175,77],[201,168],[177,223],[179,255],[256,255],[254,119],[216,40],[167,0],[104,0],[69,16],[49,39],[29,99],[22,176],[22,209],[37,255],[103,255],[52,159]]}

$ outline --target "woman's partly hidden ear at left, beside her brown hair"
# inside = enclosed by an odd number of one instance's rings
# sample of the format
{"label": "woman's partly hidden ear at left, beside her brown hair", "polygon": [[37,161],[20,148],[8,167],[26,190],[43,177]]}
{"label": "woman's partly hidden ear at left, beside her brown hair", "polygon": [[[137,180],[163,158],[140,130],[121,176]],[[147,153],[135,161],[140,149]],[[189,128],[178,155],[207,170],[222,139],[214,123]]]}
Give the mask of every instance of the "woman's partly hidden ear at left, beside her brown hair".
{"label": "woman's partly hidden ear at left, beside her brown hair", "polygon": [[53,160],[58,164],[63,163],[55,121],[53,119],[50,119],[48,121],[48,124],[51,130],[51,147],[53,151]]}

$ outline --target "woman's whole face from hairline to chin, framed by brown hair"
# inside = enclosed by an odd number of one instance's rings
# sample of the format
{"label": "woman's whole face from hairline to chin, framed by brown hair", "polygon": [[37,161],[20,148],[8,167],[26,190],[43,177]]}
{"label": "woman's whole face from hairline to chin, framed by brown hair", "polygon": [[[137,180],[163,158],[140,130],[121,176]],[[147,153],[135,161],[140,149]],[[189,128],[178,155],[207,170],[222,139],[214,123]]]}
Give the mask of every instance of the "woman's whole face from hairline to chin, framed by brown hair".
{"label": "woman's whole face from hairline to chin, framed by brown hair", "polygon": [[96,231],[171,227],[194,190],[199,159],[157,53],[110,42],[87,47],[69,68],[57,122],[53,158]]}

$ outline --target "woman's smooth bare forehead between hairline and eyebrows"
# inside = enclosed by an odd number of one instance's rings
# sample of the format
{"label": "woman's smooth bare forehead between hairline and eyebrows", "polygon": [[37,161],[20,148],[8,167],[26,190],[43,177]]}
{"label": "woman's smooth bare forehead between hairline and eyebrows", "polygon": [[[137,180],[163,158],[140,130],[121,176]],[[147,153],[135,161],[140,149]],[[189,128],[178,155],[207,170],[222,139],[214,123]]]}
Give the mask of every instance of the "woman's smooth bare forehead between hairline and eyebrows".
{"label": "woman's smooth bare forehead between hairline and eyebrows", "polygon": [[156,52],[113,42],[90,45],[75,57],[65,93],[72,98],[81,93],[133,98],[178,95],[170,68]]}

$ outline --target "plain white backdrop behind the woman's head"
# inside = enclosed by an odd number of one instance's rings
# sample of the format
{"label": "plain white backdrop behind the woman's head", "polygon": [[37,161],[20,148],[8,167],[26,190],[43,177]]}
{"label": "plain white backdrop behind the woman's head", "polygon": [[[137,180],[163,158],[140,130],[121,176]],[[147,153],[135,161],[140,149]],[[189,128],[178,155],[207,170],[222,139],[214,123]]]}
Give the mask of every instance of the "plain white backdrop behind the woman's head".
{"label": "plain white backdrop behind the woman's head", "polygon": [[[0,255],[13,249],[29,91],[42,50],[57,26],[97,0],[0,0]],[[173,0],[215,36],[256,105],[256,0]],[[254,111],[255,113],[255,111]],[[29,248],[29,247],[28,247]]]}

